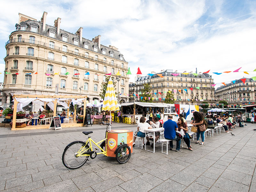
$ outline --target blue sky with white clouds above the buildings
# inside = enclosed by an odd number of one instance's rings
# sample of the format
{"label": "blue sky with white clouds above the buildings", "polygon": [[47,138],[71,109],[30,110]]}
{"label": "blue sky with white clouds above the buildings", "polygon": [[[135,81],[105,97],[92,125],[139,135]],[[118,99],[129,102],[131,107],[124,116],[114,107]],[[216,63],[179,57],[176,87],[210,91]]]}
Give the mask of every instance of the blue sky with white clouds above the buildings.
{"label": "blue sky with white clouds above the buildings", "polygon": [[[215,83],[256,76],[243,72],[256,68],[256,1],[247,0],[1,1],[1,72],[4,45],[15,30],[18,13],[40,20],[44,11],[49,25],[60,17],[64,30],[75,33],[83,27],[83,37],[90,40],[101,35],[101,44],[123,53],[132,74],[138,67],[143,74],[167,68],[182,73],[242,67],[239,73],[210,75]],[[135,76],[130,75],[130,82]]]}

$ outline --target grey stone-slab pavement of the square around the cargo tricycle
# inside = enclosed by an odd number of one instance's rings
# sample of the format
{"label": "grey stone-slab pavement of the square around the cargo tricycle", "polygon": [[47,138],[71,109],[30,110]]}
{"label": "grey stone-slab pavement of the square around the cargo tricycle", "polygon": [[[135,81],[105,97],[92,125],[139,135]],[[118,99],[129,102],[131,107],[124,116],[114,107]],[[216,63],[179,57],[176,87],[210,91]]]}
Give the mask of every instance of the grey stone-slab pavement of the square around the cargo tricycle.
{"label": "grey stone-slab pavement of the square around the cargo tricycle", "polygon": [[[135,130],[136,125],[114,123],[112,129]],[[118,164],[98,155],[81,168],[69,170],[61,161],[68,143],[105,136],[105,126],[73,127],[58,131],[10,131],[0,128],[0,191],[256,191],[256,133],[254,124],[207,137],[194,151],[182,148],[168,155],[133,148],[130,160]],[[185,146],[185,145],[184,145]]]}

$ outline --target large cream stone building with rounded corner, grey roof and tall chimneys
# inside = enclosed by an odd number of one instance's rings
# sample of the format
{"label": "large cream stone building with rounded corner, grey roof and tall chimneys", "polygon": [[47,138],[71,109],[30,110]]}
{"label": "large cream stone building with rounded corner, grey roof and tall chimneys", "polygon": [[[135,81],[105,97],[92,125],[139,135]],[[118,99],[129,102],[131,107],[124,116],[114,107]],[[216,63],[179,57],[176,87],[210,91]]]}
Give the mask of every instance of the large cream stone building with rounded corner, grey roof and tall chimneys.
{"label": "large cream stone building with rounded corner, grey roof and tall chimneys", "polygon": [[[46,15],[36,21],[19,14],[16,31],[5,45],[3,103],[10,103],[11,93],[55,94],[57,84],[59,94],[100,100],[105,74],[116,81],[118,71],[119,92],[128,94],[128,62],[116,47],[101,45],[100,35],[92,41],[83,38],[83,28],[75,34],[60,29],[60,18],[54,26],[47,25]],[[128,102],[129,97],[119,95],[119,100]]]}

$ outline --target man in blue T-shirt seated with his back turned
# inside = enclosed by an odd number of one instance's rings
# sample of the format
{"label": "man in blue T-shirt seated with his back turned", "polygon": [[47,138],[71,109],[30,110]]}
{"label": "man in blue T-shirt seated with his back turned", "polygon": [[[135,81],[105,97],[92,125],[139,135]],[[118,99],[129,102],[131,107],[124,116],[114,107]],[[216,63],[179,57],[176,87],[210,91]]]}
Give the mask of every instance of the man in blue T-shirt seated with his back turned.
{"label": "man in blue T-shirt seated with his back turned", "polygon": [[168,120],[164,122],[164,138],[171,140],[170,141],[170,150],[173,148],[172,140],[177,141],[176,143],[176,151],[181,152],[180,149],[180,138],[177,137],[176,131],[178,131],[178,125],[174,121],[172,121],[172,115],[168,115]]}

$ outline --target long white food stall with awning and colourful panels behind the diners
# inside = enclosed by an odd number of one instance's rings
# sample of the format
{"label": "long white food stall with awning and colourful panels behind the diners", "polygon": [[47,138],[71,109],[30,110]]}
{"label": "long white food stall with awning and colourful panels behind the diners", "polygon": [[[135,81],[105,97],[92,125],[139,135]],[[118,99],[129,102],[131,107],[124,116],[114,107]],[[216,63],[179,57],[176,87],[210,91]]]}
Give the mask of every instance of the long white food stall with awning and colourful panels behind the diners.
{"label": "long white food stall with awning and colourful panels behind the diners", "polygon": [[161,119],[165,122],[167,121],[167,116],[172,114],[173,120],[177,121],[179,114],[184,110],[186,112],[186,119],[191,120],[193,113],[195,111],[199,112],[198,105],[183,105],[183,104],[168,104],[168,103],[146,103],[146,102],[130,102],[122,103],[121,110],[123,112],[123,117],[131,117],[133,123],[137,123],[136,119],[139,120],[140,117],[146,117],[146,121],[149,120],[150,111],[156,110],[160,111]]}

